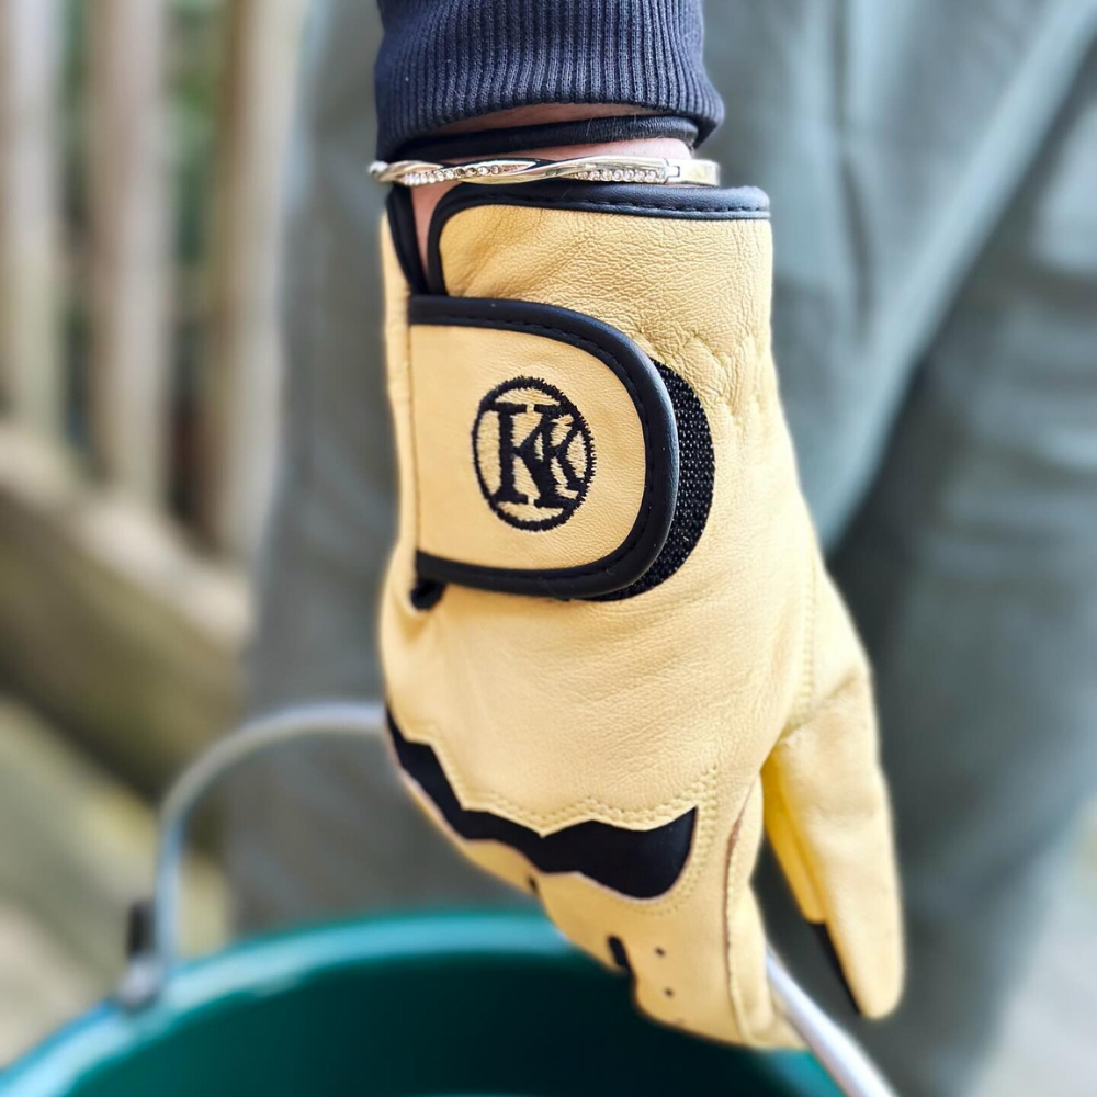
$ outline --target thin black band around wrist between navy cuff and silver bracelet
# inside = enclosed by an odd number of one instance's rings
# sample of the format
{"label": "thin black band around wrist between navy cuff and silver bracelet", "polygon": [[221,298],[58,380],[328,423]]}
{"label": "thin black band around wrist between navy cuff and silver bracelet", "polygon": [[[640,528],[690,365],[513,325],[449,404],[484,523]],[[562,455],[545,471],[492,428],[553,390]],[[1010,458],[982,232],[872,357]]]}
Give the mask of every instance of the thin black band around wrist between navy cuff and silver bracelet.
{"label": "thin black band around wrist between navy cuff and silver bracelet", "polygon": [[676,114],[614,114],[535,126],[504,126],[456,134],[431,134],[402,145],[394,160],[452,160],[470,156],[509,156],[566,145],[601,145],[614,140],[670,137],[692,148],[697,123]]}

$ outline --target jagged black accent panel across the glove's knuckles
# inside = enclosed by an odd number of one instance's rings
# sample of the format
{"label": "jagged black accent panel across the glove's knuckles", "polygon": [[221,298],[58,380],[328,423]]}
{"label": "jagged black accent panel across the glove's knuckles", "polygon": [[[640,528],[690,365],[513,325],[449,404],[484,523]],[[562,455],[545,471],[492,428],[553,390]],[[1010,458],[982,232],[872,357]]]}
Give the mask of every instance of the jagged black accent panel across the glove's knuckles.
{"label": "jagged black accent panel across the glove's knuckles", "polygon": [[463,807],[431,747],[406,739],[392,713],[388,731],[404,771],[430,798],[450,827],[468,841],[502,842],[518,850],[541,872],[580,872],[632,898],[665,894],[686,868],[695,807],[651,830],[588,822],[541,836],[491,812]]}

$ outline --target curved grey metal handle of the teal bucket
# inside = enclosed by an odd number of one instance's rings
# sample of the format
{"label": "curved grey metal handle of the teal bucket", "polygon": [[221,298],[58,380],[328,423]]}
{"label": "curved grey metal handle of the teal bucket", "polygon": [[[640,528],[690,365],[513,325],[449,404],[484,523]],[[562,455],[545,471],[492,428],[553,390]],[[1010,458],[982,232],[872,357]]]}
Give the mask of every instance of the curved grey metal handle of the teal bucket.
{"label": "curved grey metal handle of the teal bucket", "polygon": [[[385,712],[376,701],[328,701],[279,709],[219,739],[179,777],[160,807],[156,882],[148,931],[133,950],[118,988],[121,1002],[140,1009],[160,993],[176,962],[179,894],[186,827],[202,798],[226,773],[280,743],[319,735],[380,736]],[[779,1008],[846,1097],[895,1097],[864,1051],[789,974],[772,949],[766,966]]]}

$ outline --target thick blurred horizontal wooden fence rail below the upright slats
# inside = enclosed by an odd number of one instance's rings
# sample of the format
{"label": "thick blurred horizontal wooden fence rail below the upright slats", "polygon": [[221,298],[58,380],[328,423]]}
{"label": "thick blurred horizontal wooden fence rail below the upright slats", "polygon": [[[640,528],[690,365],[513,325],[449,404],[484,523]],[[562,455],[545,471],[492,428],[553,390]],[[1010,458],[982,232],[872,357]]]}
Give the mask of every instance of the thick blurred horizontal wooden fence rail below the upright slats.
{"label": "thick blurred horizontal wooden fence rail below the upright slats", "polygon": [[55,448],[0,426],[0,672],[157,793],[236,712],[240,573]]}

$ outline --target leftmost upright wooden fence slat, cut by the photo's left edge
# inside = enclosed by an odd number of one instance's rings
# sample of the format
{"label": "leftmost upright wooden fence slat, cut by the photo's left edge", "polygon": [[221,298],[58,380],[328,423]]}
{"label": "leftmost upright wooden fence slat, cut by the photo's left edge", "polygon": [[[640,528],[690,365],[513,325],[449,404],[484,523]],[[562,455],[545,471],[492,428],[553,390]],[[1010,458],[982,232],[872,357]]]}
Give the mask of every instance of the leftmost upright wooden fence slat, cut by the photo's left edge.
{"label": "leftmost upright wooden fence slat, cut by the photo's left edge", "polygon": [[15,419],[58,432],[57,0],[0,2],[0,383]]}

